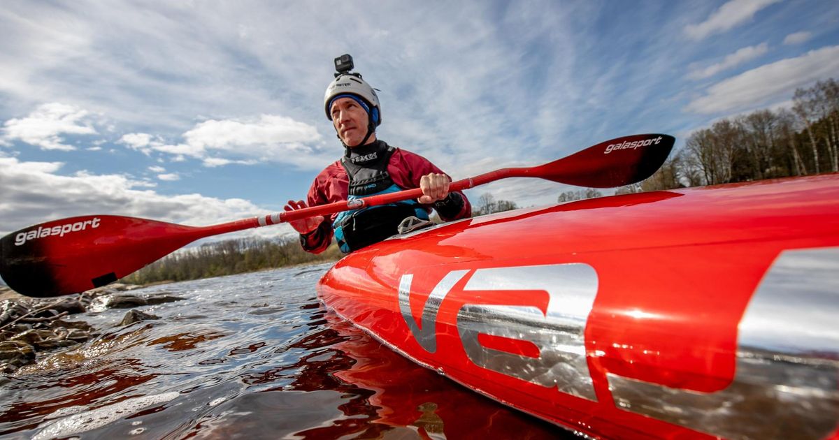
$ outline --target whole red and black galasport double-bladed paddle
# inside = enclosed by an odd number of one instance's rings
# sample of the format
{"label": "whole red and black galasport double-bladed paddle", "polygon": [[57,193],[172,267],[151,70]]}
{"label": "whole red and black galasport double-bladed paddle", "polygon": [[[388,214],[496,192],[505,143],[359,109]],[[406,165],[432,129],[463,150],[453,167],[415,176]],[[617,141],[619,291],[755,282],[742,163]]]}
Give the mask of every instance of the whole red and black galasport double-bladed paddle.
{"label": "whole red and black galasport double-bladed paddle", "polygon": [[[449,190],[470,189],[511,177],[547,179],[591,188],[634,184],[659,169],[674,142],[674,137],[665,134],[618,137],[543,165],[502,168],[457,180],[450,184]],[[0,240],[0,276],[8,287],[29,297],[84,292],[115,282],[201,238],[417,199],[420,195],[420,189],[407,189],[208,226],[176,225],[120,215],[53,220],[15,231]]]}

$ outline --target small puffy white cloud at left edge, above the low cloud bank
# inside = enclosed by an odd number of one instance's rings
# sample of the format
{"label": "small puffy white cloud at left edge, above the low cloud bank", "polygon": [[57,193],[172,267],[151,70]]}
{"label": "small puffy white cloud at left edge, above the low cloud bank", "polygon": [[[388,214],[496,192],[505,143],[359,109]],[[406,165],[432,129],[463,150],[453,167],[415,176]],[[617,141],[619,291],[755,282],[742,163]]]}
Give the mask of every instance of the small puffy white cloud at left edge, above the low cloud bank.
{"label": "small puffy white cloud at left edge, above the low cloud bank", "polygon": [[77,106],[52,102],[36,108],[29,116],[9,119],[3,124],[7,140],[20,140],[42,150],[72,151],[64,135],[96,134],[90,113]]}

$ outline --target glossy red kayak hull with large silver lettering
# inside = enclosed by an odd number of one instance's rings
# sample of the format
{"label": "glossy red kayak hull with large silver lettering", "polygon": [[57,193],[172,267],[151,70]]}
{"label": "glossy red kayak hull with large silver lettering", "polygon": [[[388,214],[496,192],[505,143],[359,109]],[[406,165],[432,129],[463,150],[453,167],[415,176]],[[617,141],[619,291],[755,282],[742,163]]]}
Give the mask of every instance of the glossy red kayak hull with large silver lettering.
{"label": "glossy red kayak hull with large silver lettering", "polygon": [[461,220],[318,288],[409,359],[576,432],[839,438],[839,174]]}

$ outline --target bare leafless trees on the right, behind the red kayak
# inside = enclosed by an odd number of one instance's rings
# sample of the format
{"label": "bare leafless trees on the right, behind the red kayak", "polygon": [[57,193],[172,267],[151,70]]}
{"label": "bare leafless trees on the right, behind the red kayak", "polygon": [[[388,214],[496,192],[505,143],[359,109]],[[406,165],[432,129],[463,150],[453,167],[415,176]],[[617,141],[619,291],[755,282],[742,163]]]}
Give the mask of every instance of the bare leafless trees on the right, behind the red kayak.
{"label": "bare leafless trees on the right, behind the red kayak", "polygon": [[798,89],[789,109],[758,110],[697,130],[649,179],[618,194],[839,171],[839,83]]}

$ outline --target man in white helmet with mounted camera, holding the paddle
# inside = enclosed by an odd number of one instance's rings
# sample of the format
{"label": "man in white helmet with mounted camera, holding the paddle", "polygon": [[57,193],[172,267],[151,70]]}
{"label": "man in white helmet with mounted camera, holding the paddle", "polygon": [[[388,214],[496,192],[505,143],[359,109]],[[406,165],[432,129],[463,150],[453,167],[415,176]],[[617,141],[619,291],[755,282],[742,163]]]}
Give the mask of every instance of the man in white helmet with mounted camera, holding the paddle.
{"label": "man in white helmet with mounted camera, holding the paddle", "polygon": [[[347,57],[352,69],[352,57]],[[336,59],[336,65],[338,64]],[[422,189],[416,200],[372,206],[332,215],[290,222],[300,232],[305,251],[320,253],[336,237],[341,251],[350,252],[382,241],[397,233],[399,223],[410,216],[428,220],[431,208],[442,220],[472,215],[472,206],[461,192],[449,192],[451,178],[428,159],[401,148],[390,147],[376,137],[382,123],[381,107],[373,87],[349,70],[336,74],[324,96],[326,117],[332,121],[344,156],[315,178],[307,202],[289,200],[285,210],[357,199],[402,189]]]}

